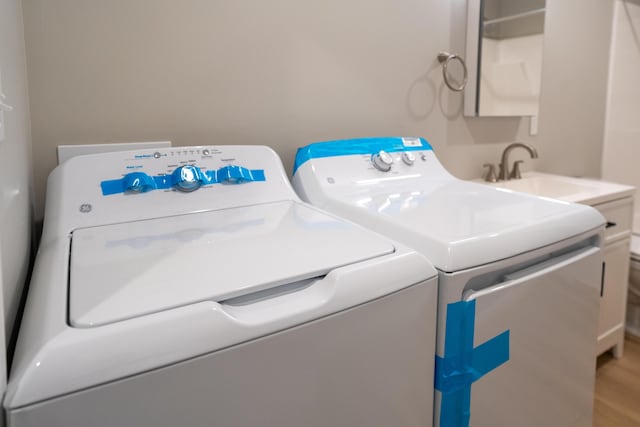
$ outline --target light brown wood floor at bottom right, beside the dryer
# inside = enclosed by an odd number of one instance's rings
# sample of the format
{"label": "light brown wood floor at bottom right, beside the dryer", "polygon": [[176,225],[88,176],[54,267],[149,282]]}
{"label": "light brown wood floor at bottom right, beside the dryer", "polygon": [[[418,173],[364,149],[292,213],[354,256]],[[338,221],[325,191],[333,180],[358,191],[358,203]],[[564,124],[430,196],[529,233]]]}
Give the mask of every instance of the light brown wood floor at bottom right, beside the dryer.
{"label": "light brown wood floor at bottom right, beside the dryer", "polygon": [[594,427],[640,426],[640,340],[625,340],[624,356],[598,357]]}

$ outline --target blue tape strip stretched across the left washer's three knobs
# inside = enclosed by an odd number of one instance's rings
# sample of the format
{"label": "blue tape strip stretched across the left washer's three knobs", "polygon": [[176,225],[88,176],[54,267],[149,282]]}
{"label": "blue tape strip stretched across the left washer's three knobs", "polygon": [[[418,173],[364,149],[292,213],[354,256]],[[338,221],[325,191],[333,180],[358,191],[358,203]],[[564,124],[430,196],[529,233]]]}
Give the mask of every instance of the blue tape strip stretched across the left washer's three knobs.
{"label": "blue tape strip stretched across the left washer's three knobs", "polygon": [[102,181],[100,188],[103,196],[126,192],[146,193],[171,188],[185,179],[197,181],[202,186],[265,181],[265,175],[262,169],[247,169],[242,166],[224,166],[206,172],[197,166],[188,166],[176,169],[171,175],[150,176],[144,172],[132,172],[120,179]]}

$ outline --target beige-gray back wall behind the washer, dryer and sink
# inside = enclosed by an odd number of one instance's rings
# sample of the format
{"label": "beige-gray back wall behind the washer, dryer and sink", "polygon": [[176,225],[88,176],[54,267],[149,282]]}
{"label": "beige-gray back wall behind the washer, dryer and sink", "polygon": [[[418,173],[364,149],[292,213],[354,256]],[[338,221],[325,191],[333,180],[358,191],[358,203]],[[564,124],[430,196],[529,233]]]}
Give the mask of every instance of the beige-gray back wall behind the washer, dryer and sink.
{"label": "beige-gray back wall behind the washer, dryer and sink", "polygon": [[612,0],[548,7],[529,137],[528,119],[463,118],[444,87],[436,56],[464,52],[464,0],[24,0],[37,215],[59,144],[266,144],[291,170],[310,142],[420,135],[473,178],[527,140],[527,167],[597,176]]}

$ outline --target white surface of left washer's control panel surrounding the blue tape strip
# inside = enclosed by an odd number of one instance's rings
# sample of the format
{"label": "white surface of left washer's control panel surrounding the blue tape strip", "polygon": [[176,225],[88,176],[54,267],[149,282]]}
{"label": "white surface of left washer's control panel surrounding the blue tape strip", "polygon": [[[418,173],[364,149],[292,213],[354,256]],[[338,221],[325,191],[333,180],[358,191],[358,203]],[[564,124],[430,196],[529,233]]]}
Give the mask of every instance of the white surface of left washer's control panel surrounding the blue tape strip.
{"label": "white surface of left washer's control panel surrounding the blue tape strip", "polygon": [[[206,154],[205,154],[206,153]],[[132,172],[157,177],[182,166],[203,171],[236,165],[264,171],[265,180],[237,185],[206,185],[197,191],[175,188],[145,193],[103,195],[101,183]],[[73,157],[55,168],[47,181],[42,242],[53,232],[162,218],[204,210],[291,200],[294,195],[277,154],[264,146],[173,147]]]}

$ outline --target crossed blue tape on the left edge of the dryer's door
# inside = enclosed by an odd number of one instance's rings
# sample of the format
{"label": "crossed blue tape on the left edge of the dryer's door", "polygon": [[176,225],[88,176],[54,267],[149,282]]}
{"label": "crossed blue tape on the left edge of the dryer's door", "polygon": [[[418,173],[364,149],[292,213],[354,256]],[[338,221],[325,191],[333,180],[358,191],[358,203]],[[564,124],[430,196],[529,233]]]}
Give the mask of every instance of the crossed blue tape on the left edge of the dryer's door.
{"label": "crossed blue tape on the left edge of the dryer's door", "polygon": [[447,304],[444,357],[436,356],[435,366],[440,427],[468,426],[471,384],[509,360],[509,330],[473,347],[475,316],[475,300]]}

